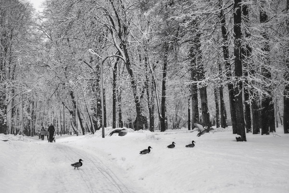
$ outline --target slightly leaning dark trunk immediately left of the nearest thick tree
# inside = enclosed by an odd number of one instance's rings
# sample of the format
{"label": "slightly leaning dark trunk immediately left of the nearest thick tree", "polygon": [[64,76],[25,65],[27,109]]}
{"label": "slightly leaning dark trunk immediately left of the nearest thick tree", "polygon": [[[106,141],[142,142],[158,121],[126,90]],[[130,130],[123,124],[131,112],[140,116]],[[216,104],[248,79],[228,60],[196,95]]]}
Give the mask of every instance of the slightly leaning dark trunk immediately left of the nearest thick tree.
{"label": "slightly leaning dark trunk immediately left of the nearest thick tree", "polygon": [[231,70],[231,64],[229,62],[229,47],[228,47],[228,34],[226,29],[226,20],[224,15],[224,9],[223,9],[223,0],[220,1],[221,11],[220,11],[220,20],[221,20],[221,31],[222,31],[222,37],[223,37],[223,55],[224,55],[224,62],[225,67],[227,68],[227,81],[228,81],[228,90],[229,90],[229,102],[230,102],[230,113],[231,113],[231,121],[232,121],[232,128],[233,128],[233,134],[237,133],[237,117],[236,117],[236,109],[235,109],[235,94],[234,94],[234,88],[232,83],[232,70]]}

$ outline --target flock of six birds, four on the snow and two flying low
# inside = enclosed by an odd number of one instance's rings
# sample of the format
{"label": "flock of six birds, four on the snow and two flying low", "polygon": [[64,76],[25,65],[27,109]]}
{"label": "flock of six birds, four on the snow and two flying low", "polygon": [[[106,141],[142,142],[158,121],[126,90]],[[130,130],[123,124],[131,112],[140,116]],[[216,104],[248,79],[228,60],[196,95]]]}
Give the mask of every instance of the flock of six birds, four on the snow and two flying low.
{"label": "flock of six birds, four on the snow and two flying low", "polygon": [[[198,123],[194,123],[194,127],[198,128],[198,131],[199,131],[199,133],[197,134],[198,137],[203,135],[203,134],[205,134],[205,133],[208,133],[210,130],[214,130],[213,128],[205,129],[204,128],[205,126],[202,123],[199,123],[199,122]],[[114,133],[118,133],[118,136],[125,136],[127,134],[127,132],[124,132],[123,130],[125,130],[125,129],[113,130],[112,132],[110,132],[109,136],[112,136],[112,134],[114,134]],[[188,145],[185,145],[185,147],[186,148],[193,148],[195,146],[194,143],[196,143],[196,142],[192,141],[192,143],[190,143]],[[176,143],[173,142],[172,144],[168,145],[167,148],[172,149],[172,148],[175,147],[175,144]],[[151,149],[153,149],[153,148],[151,146],[149,146],[147,149],[144,149],[144,150],[140,151],[140,154],[147,154],[147,153],[151,152]],[[75,167],[77,167],[77,170],[78,170],[78,168],[82,166],[82,162],[81,161],[83,161],[83,160],[79,159],[78,162],[72,163],[71,166],[73,166],[74,169],[75,169]]]}

